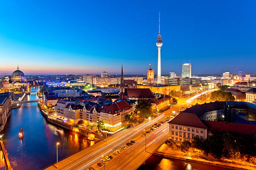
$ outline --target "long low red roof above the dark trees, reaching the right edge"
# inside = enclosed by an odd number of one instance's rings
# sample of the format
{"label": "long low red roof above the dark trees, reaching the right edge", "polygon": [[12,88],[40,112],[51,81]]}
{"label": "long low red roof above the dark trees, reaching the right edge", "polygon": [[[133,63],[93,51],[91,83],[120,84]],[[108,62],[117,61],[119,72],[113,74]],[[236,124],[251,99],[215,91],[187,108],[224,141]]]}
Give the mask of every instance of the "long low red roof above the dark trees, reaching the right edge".
{"label": "long low red roof above the dark trees, reaching the right edge", "polygon": [[241,123],[223,123],[218,121],[202,120],[208,127],[208,131],[216,130],[218,132],[230,132],[238,135],[254,136],[256,134],[256,125],[247,125]]}

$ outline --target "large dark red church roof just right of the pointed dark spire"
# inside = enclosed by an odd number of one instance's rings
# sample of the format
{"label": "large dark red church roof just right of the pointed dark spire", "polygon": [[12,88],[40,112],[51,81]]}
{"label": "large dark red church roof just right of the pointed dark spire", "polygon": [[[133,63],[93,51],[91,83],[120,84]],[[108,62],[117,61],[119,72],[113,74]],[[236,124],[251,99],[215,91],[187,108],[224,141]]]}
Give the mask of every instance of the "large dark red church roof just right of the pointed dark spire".
{"label": "large dark red church roof just right of the pointed dark spire", "polygon": [[148,88],[125,88],[125,94],[128,98],[148,98],[148,99],[154,99],[155,96]]}

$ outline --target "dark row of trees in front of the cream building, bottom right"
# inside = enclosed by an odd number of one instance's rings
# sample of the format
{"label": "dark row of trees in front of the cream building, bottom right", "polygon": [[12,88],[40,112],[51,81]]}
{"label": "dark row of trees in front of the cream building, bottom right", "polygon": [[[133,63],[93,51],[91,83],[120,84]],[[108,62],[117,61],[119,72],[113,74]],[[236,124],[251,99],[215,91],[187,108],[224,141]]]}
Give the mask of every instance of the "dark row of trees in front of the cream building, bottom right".
{"label": "dark row of trees in front of the cream building, bottom right", "polygon": [[182,152],[196,148],[202,150],[203,154],[213,158],[250,158],[256,156],[256,136],[243,136],[229,132],[213,132],[205,142],[195,137],[190,143],[185,140],[180,145]]}

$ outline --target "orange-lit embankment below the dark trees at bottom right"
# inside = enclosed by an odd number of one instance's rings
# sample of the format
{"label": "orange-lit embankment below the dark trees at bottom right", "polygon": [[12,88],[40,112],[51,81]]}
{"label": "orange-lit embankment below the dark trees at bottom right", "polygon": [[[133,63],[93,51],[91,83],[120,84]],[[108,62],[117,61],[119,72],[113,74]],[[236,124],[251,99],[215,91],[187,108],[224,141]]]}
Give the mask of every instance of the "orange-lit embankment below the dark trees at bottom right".
{"label": "orange-lit embankment below the dark trees at bottom right", "polygon": [[[172,143],[171,145],[175,145]],[[183,160],[186,162],[191,163],[200,163],[205,165],[211,165],[215,167],[220,168],[229,168],[233,170],[255,170],[252,166],[246,166],[246,165],[238,165],[233,163],[225,163],[221,161],[216,160],[207,160],[204,158],[201,158],[199,155],[195,153],[188,153],[188,154],[182,154],[182,152],[179,150],[179,148],[175,149],[175,146],[171,146],[169,144],[163,144],[153,155],[160,156],[162,158],[167,159],[177,159],[177,160]]]}

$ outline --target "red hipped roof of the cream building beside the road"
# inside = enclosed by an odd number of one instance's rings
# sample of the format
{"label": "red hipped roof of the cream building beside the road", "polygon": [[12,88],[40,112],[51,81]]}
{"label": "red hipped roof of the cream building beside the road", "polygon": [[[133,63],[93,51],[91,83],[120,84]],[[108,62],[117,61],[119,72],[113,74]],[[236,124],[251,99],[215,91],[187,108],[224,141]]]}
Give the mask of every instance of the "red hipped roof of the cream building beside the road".
{"label": "red hipped roof of the cream building beside the road", "polygon": [[179,113],[179,115],[174,117],[174,119],[170,120],[168,123],[207,129],[207,127],[202,123],[202,121],[194,113],[181,112]]}

